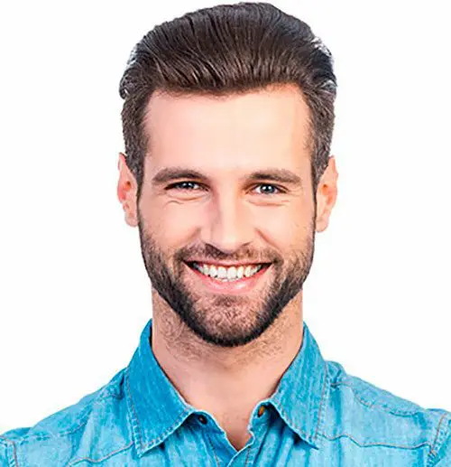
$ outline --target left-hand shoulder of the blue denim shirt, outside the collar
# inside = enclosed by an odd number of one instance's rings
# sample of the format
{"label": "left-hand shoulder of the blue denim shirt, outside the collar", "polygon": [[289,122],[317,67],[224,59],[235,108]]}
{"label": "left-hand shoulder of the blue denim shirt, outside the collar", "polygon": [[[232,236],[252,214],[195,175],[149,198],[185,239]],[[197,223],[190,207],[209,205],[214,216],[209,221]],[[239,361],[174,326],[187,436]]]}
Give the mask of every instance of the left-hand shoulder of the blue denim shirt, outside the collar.
{"label": "left-hand shoulder of the blue denim shirt, outside the collar", "polygon": [[[85,447],[96,444],[100,459],[129,444],[123,380],[124,369],[104,387],[36,425],[0,434],[0,465],[66,466],[72,459],[83,459]],[[107,434],[102,429],[105,425]]]}

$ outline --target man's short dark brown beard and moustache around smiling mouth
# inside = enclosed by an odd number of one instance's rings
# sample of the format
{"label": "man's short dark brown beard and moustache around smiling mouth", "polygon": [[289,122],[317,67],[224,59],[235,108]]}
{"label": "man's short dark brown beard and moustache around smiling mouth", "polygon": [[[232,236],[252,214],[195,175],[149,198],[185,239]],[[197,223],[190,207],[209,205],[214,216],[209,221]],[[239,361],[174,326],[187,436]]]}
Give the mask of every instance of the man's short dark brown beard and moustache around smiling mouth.
{"label": "man's short dark brown beard and moustache around smiling mouth", "polygon": [[[170,258],[144,228],[138,212],[144,266],[152,287],[200,339],[220,347],[242,346],[262,335],[302,290],[313,261],[314,219],[308,226],[308,237],[303,247],[291,252],[288,258],[273,250],[257,253],[250,249],[243,250],[239,257],[231,257],[208,244],[204,248],[180,248]],[[244,261],[255,264],[271,262],[259,280],[268,282],[265,275],[272,274],[272,281],[261,294],[198,294],[193,290],[196,287],[189,286],[193,277],[187,277],[190,271],[185,261],[192,257],[229,260],[238,264]]]}

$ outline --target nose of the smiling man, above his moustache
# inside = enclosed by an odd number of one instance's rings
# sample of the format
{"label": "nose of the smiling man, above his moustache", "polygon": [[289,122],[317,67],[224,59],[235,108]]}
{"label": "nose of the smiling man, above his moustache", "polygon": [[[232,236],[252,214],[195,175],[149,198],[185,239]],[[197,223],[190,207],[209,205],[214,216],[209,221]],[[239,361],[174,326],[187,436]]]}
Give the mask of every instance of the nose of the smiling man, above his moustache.
{"label": "nose of the smiling man, above his moustache", "polygon": [[252,217],[243,201],[232,193],[211,201],[206,225],[201,229],[204,243],[233,253],[253,240]]}

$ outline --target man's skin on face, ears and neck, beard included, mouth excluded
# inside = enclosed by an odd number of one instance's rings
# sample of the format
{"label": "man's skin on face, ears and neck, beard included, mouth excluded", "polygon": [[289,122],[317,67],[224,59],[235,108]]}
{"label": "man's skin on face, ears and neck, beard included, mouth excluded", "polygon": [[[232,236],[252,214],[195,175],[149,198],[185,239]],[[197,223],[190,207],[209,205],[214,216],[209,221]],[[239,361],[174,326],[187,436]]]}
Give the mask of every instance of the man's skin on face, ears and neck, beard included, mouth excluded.
{"label": "man's skin on face, ears and neck, beard included, mouth excluded", "polygon": [[[119,156],[117,196],[126,223],[140,230],[152,284],[155,358],[236,450],[250,438],[254,406],[271,397],[299,351],[302,285],[315,233],[327,229],[336,202],[334,157],[312,190],[308,115],[294,85],[224,98],[158,91],[144,119],[150,143],[139,201]],[[155,180],[175,167],[200,177]],[[250,178],[274,169],[299,181]],[[168,189],[174,182],[185,183]],[[208,290],[184,262],[198,258],[271,266],[253,290],[231,295]]]}

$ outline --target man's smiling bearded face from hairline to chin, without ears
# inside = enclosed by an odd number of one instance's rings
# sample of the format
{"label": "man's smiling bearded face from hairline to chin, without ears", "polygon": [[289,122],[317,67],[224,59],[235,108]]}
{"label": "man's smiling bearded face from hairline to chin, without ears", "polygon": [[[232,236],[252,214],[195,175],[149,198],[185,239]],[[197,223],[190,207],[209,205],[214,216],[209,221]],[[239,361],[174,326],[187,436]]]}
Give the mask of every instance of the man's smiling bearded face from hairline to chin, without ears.
{"label": "man's smiling bearded face from hairline to chin, without ears", "polygon": [[156,93],[137,205],[154,292],[204,341],[253,341],[311,266],[308,107],[283,86],[226,98]]}

